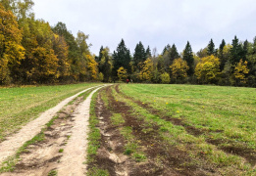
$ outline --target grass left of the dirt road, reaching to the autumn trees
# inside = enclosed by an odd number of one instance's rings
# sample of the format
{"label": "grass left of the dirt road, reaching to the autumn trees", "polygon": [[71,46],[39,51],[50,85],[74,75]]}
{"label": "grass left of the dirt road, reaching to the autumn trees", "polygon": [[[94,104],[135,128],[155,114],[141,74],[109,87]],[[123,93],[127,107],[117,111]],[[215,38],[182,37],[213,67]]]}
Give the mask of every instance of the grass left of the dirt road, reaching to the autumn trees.
{"label": "grass left of the dirt road, reaching to the autumn trees", "polygon": [[0,142],[39,113],[98,83],[0,88]]}

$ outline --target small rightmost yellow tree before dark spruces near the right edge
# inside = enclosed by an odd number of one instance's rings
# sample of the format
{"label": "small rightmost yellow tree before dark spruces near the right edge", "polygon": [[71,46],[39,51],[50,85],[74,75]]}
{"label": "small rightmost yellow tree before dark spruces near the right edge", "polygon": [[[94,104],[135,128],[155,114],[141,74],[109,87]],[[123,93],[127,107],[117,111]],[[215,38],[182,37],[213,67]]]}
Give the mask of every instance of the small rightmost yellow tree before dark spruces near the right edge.
{"label": "small rightmost yellow tree before dark spruces near the right edge", "polygon": [[240,60],[239,63],[234,67],[233,75],[236,78],[236,80],[240,83],[246,83],[247,79],[245,78],[245,74],[249,73],[249,69],[247,67],[247,62],[242,62]]}

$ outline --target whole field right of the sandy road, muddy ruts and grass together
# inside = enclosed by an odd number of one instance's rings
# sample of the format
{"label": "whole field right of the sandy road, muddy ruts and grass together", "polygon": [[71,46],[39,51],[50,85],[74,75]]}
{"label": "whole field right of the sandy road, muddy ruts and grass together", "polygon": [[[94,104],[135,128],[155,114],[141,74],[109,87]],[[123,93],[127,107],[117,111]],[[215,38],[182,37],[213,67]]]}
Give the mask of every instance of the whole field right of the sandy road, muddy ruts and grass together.
{"label": "whole field right of the sandy road, muddy ruts and grass together", "polygon": [[94,104],[89,175],[256,174],[253,88],[121,84]]}

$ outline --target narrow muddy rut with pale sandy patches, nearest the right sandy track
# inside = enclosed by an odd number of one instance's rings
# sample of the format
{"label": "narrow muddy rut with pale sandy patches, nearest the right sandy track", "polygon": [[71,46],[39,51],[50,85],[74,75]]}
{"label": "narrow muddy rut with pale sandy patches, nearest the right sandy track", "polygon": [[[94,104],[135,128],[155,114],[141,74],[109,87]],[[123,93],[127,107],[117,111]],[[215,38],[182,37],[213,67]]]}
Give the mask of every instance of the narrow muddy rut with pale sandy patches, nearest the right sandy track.
{"label": "narrow muddy rut with pale sandy patches, nearest the right sandy track", "polygon": [[[105,89],[104,89],[105,90]],[[95,161],[87,166],[87,170],[95,165],[108,170],[110,175],[129,175],[129,167],[132,161],[124,154],[125,139],[120,134],[119,126],[111,123],[111,111],[108,110],[99,95],[95,106],[96,116],[99,119],[101,139],[100,148],[94,155]]]}

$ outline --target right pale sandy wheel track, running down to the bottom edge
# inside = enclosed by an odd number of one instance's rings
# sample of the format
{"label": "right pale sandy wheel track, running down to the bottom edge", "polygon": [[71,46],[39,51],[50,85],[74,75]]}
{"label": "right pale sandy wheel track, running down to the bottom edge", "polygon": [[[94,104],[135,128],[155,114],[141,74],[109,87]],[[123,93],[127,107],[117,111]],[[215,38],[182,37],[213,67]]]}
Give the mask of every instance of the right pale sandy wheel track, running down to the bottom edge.
{"label": "right pale sandy wheel track, running down to the bottom edge", "polygon": [[77,107],[75,126],[72,130],[71,139],[65,148],[65,153],[61,158],[60,165],[58,166],[58,175],[80,176],[85,174],[86,165],[82,162],[85,161],[86,157],[90,102],[93,94],[100,88],[91,92],[87,99]]}

